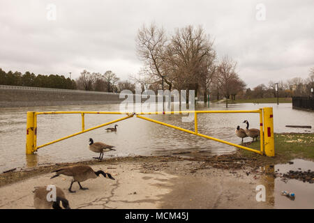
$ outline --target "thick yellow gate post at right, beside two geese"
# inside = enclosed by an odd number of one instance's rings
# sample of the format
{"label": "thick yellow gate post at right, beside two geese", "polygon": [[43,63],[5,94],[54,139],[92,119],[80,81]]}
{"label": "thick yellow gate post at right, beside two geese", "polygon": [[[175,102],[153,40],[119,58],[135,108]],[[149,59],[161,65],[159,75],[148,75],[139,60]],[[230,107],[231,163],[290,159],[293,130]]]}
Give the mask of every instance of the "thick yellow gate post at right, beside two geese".
{"label": "thick yellow gate post at right, beside two geese", "polygon": [[272,107],[264,107],[264,152],[267,156],[275,155],[274,116]]}

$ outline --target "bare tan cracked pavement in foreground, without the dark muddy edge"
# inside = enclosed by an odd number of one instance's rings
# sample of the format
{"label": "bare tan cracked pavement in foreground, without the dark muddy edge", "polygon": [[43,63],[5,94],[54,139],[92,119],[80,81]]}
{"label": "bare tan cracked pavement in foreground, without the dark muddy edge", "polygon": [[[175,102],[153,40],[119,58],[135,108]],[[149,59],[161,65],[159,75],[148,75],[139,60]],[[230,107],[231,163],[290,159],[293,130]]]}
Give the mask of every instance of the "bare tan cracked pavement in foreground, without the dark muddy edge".
{"label": "bare tan cracked pavement in foreground, without the dark muddy edge", "polygon": [[56,185],[65,192],[70,208],[271,208],[257,202],[255,187],[262,176],[247,176],[242,169],[216,169],[204,162],[158,160],[96,164],[116,180],[99,176],[82,182],[89,190],[68,192],[70,177],[54,174],[33,176],[0,187],[0,208],[33,208],[33,187]]}

